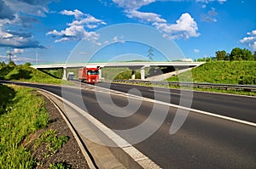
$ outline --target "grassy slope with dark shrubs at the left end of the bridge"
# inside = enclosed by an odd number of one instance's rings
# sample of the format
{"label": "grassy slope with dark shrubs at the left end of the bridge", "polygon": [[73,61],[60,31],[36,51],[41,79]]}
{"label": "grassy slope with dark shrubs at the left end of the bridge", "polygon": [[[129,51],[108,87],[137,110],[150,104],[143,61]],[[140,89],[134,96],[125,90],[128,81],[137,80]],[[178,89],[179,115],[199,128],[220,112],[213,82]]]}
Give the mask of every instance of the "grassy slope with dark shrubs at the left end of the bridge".
{"label": "grassy slope with dark shrubs at the left end of the bridge", "polygon": [[1,65],[0,79],[25,81],[25,82],[45,82],[61,84],[61,79],[56,79],[39,70],[33,69],[29,65]]}

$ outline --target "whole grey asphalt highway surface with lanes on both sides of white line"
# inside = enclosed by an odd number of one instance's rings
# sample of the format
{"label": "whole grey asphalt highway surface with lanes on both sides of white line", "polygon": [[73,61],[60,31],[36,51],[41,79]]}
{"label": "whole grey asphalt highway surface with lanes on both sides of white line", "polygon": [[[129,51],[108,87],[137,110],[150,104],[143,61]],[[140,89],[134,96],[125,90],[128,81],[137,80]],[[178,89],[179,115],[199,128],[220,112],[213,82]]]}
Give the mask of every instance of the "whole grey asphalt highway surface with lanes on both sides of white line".
{"label": "whole grey asphalt highway surface with lanes on both sides of white line", "polygon": [[[27,86],[27,84],[26,84]],[[94,87],[83,84],[83,90],[76,87],[61,87],[49,85],[30,85],[43,88],[59,96],[65,95],[73,104],[77,104],[93,115],[98,121],[115,130],[125,130],[137,127],[148,121],[151,112],[156,110],[159,115],[153,116],[150,123],[135,135],[119,132],[129,143],[134,142],[145,133],[154,131],[161,117],[166,116],[163,123],[152,135],[133,146],[162,168],[255,168],[256,167],[256,127],[236,121],[227,121],[210,115],[190,111],[183,126],[174,134],[170,134],[177,108],[165,104],[157,104],[147,99],[128,97],[127,93],[142,95],[148,99],[159,99],[165,103],[179,104],[180,94],[189,102],[186,92],[152,87],[112,84],[111,88],[124,93],[111,91],[108,98],[107,83],[99,83]],[[131,90],[131,88],[137,88]],[[64,90],[64,92],[63,92]],[[137,93],[139,90],[141,93]],[[155,93],[157,97],[155,97]],[[189,93],[189,92],[187,92]],[[83,103],[79,101],[83,100]],[[99,99],[102,103],[99,103]],[[113,101],[113,102],[112,102]],[[140,106],[137,108],[137,103]],[[112,105],[115,104],[116,106]],[[85,106],[84,106],[84,105]],[[130,105],[131,106],[127,106]],[[102,109],[105,106],[105,109]],[[119,106],[119,107],[117,107]],[[132,115],[129,111],[136,110]],[[132,109],[134,108],[134,109]],[[231,96],[216,93],[193,93],[191,108],[219,115],[227,115],[243,121],[256,122],[256,98]],[[109,115],[106,109],[114,115]]]}

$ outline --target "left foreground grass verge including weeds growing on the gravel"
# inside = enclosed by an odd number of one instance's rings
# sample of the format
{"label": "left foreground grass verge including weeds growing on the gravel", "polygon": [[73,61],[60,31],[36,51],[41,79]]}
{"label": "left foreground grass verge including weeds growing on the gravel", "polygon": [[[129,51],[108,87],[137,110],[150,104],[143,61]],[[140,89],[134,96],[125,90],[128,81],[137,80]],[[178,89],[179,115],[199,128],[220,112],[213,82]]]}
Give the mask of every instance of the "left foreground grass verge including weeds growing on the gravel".
{"label": "left foreground grass verge including weeds growing on the gravel", "polygon": [[[45,159],[67,143],[68,137],[57,136],[55,130],[39,132],[49,125],[49,114],[33,89],[0,84],[0,92],[0,168],[35,168],[42,161],[32,152],[44,147]],[[50,168],[70,167],[55,163]]]}

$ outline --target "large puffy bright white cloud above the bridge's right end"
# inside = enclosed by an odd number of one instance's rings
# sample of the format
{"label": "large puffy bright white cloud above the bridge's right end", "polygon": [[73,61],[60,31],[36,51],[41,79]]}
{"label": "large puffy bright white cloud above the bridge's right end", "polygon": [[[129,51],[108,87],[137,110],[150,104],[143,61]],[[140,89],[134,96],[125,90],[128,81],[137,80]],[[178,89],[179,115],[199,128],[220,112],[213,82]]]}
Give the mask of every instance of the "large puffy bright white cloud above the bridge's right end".
{"label": "large puffy bright white cloud above the bridge's right end", "polygon": [[195,20],[188,13],[182,14],[176,24],[154,23],[154,25],[158,30],[165,33],[165,37],[172,39],[188,39],[189,37],[200,36]]}

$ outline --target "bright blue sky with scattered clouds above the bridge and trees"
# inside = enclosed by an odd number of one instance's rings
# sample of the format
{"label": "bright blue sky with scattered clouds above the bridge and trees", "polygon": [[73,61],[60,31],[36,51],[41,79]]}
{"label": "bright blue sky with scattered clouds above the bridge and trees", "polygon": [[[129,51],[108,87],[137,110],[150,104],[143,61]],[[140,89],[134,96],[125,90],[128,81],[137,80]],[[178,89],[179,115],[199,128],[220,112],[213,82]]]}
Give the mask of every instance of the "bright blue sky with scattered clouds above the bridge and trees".
{"label": "bright blue sky with scattered clouds above the bridge and trees", "polygon": [[[254,52],[255,6],[254,0],[0,0],[0,61],[10,51],[17,63],[35,64],[37,57],[38,64],[66,62],[81,39],[95,43],[98,30],[124,23],[151,26],[176,42],[186,58],[236,47]],[[136,48],[133,54],[148,55],[147,45],[123,44]],[[109,45],[108,54],[120,54],[120,46]]]}

